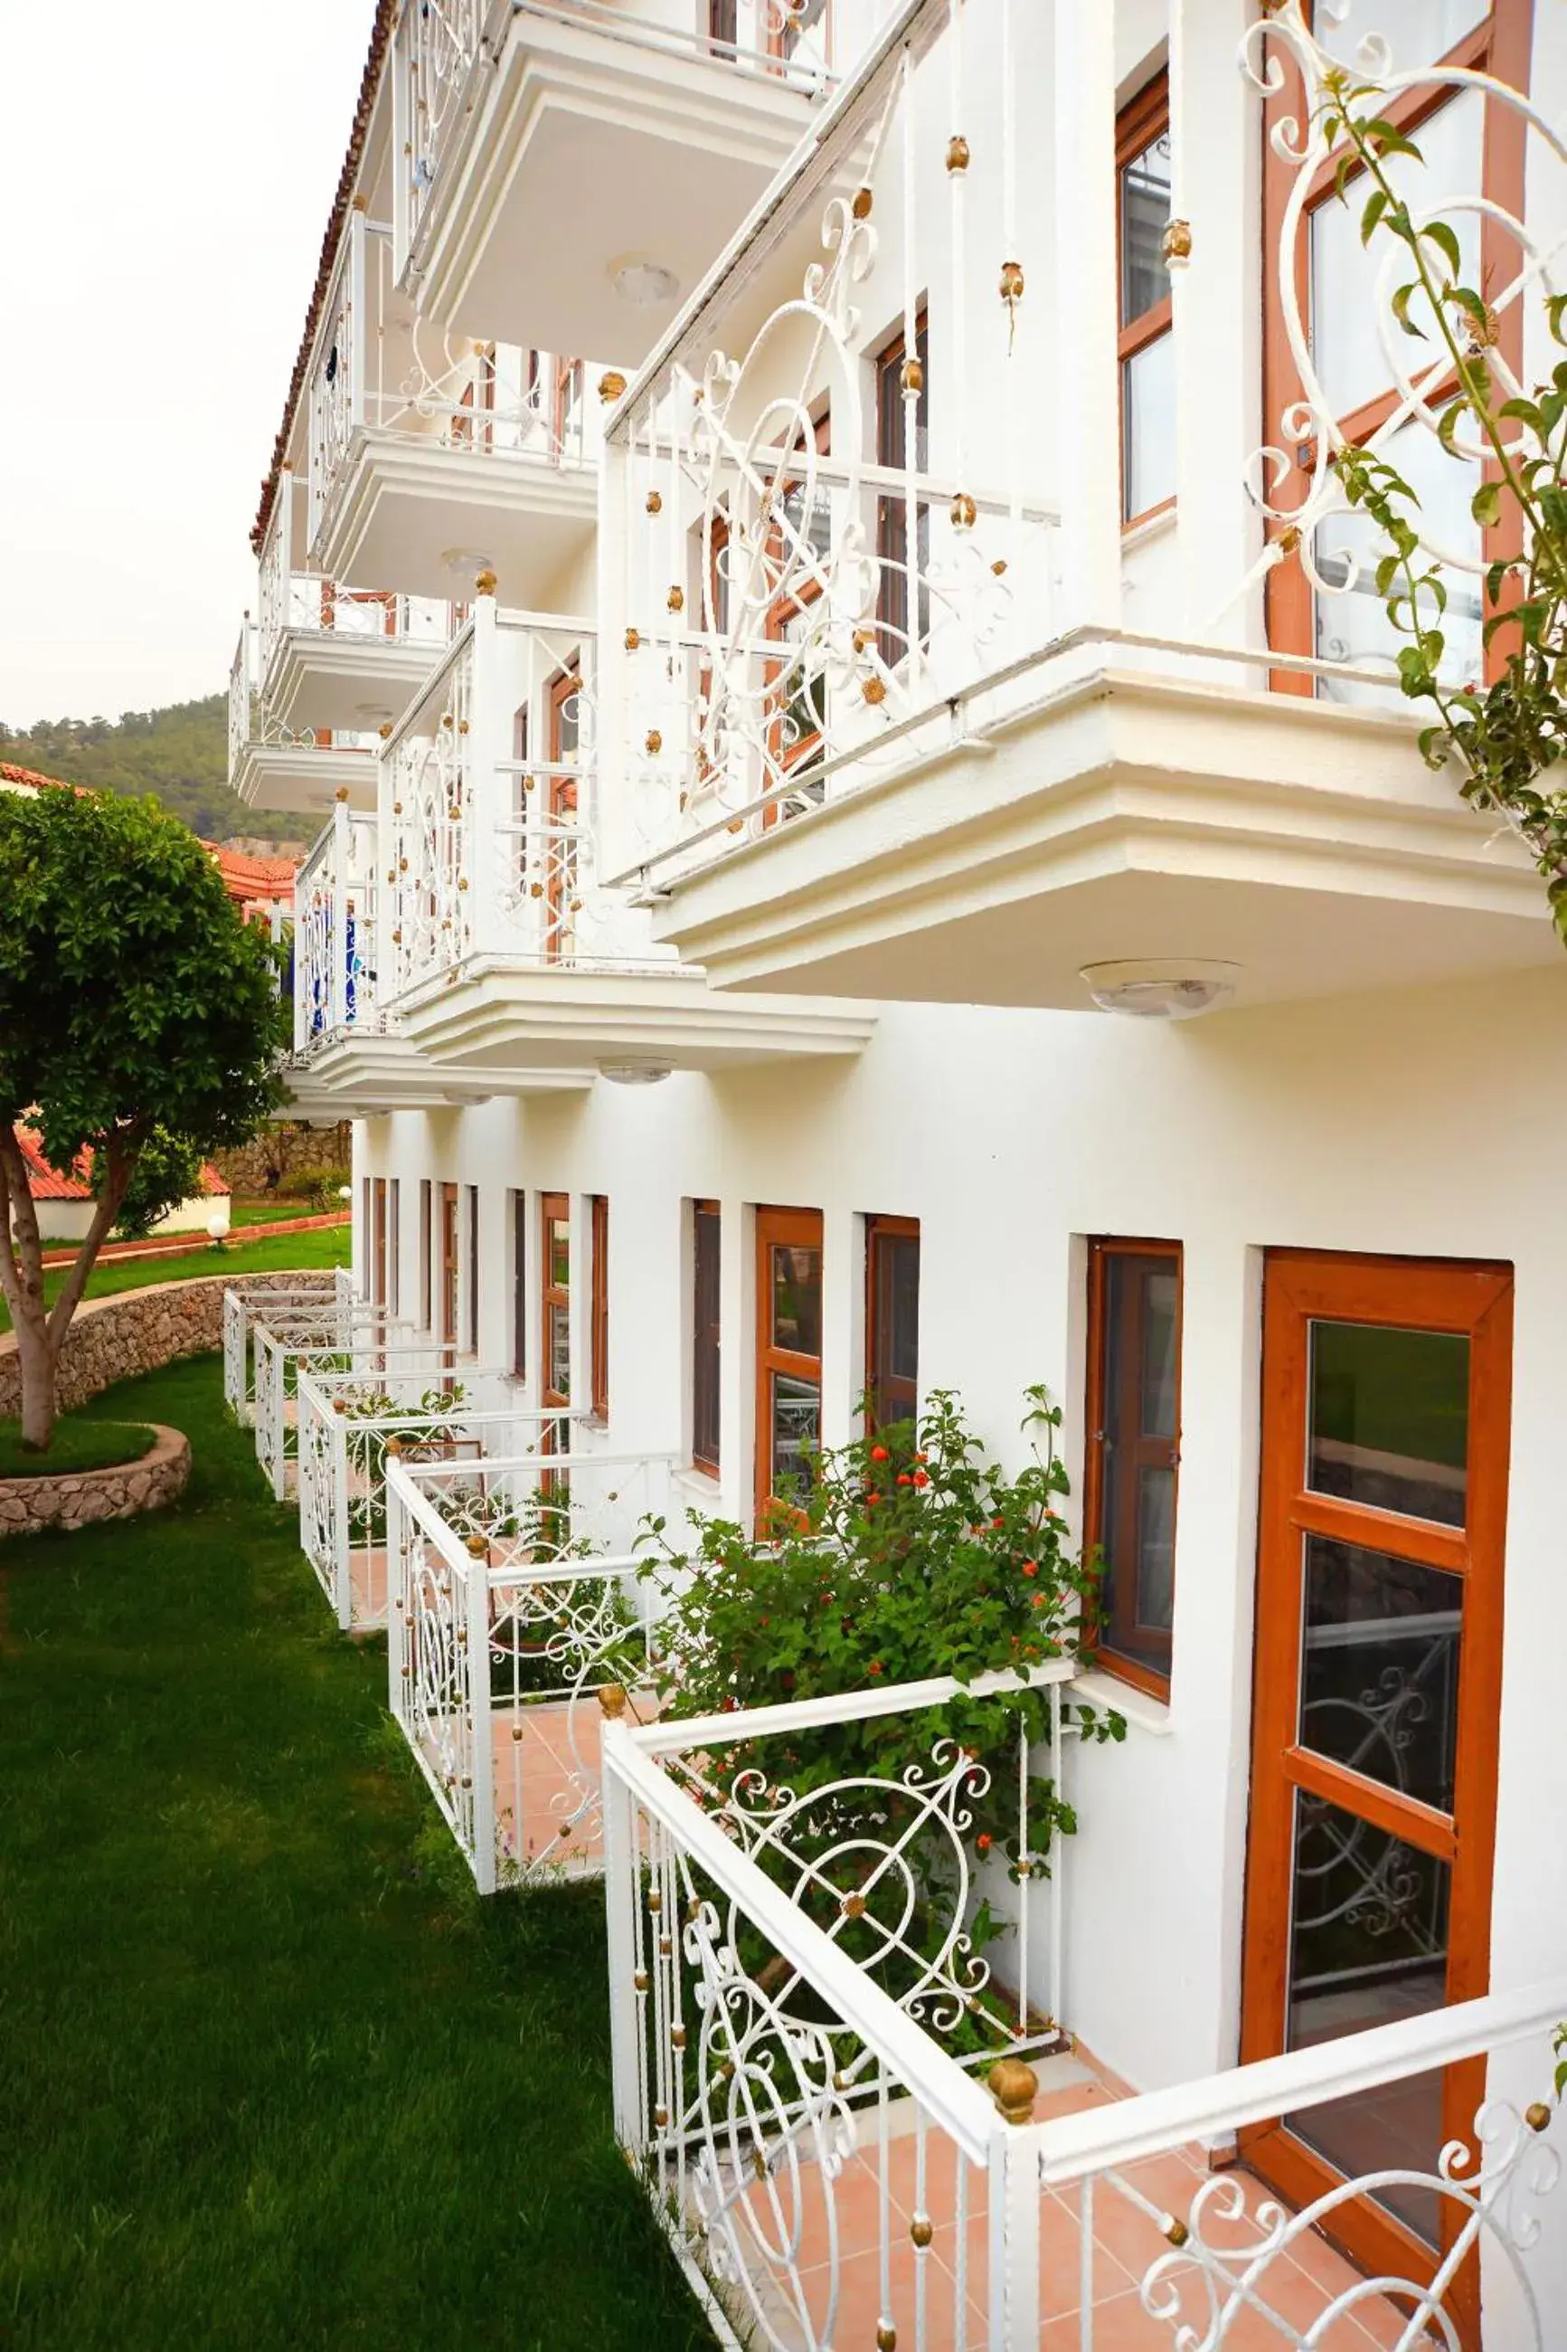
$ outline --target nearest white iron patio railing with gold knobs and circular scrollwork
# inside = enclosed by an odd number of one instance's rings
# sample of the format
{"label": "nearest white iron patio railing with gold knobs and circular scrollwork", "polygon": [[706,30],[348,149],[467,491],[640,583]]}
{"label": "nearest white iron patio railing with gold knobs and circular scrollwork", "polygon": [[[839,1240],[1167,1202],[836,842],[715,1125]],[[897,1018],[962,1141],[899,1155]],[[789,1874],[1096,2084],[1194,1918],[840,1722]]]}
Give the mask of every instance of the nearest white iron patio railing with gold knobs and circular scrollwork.
{"label": "nearest white iron patio railing with gold knobs and circular scrollwork", "polygon": [[[1034,2065],[998,2058],[987,2096],[963,2063],[987,1990],[966,1860],[982,1766],[935,1740],[926,1764],[808,1797],[780,1780],[808,1729],[876,1712],[916,1731],[961,1696],[937,1682],[601,1736],[616,2129],[719,2340],[1036,2352],[1052,2328],[1111,2352],[1139,2328],[1170,2352],[1457,2352],[1482,2256],[1487,2345],[1548,2352],[1529,2249],[1558,2173],[1551,2103],[1492,2100],[1428,2173],[1351,2178],[1302,2213],[1243,2173],[1146,2159],[1513,2044],[1544,2089],[1567,1980],[1036,2124]],[[1407,2185],[1450,2216],[1428,2265],[1292,2263]]]}

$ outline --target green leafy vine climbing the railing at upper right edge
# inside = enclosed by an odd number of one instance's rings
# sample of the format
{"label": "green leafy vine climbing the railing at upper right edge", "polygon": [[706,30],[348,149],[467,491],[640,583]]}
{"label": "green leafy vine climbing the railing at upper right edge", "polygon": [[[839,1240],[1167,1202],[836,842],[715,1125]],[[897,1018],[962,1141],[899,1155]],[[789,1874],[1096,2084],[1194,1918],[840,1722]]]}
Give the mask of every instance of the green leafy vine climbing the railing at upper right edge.
{"label": "green leafy vine climbing the railing at upper right edge", "polygon": [[[1518,830],[1567,941],[1567,786],[1553,781],[1567,755],[1567,355],[1548,383],[1536,383],[1527,397],[1511,395],[1489,358],[1499,341],[1497,315],[1459,278],[1457,233],[1447,221],[1417,221],[1388,181],[1386,158],[1419,162],[1419,146],[1377,111],[1379,99],[1372,85],[1334,73],[1325,127],[1341,151],[1341,202],[1351,200],[1351,186],[1370,188],[1360,240],[1370,245],[1384,235],[1407,249],[1410,278],[1393,294],[1393,318],[1412,341],[1428,346],[1412,365],[1435,362],[1452,374],[1438,437],[1454,463],[1468,449],[1485,454],[1485,480],[1471,501],[1497,550],[1485,572],[1482,640],[1504,652],[1487,684],[1442,682],[1447,586],[1442,564],[1419,546],[1410,522],[1419,510],[1410,482],[1365,449],[1341,447],[1334,466],[1349,503],[1363,508],[1386,541],[1377,593],[1407,640],[1398,654],[1400,687],[1438,713],[1421,731],[1421,755],[1431,767],[1452,760],[1464,800]],[[1567,353],[1567,296],[1548,296],[1544,313],[1551,341]]]}

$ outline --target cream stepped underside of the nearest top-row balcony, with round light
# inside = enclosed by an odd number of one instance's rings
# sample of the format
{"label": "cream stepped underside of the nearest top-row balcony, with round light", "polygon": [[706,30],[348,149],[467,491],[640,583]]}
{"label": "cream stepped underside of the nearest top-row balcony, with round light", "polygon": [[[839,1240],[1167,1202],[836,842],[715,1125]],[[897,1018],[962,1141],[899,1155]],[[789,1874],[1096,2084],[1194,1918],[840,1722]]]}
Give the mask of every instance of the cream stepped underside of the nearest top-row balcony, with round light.
{"label": "cream stepped underside of the nearest top-row balcony, with round light", "polygon": [[[430,193],[409,273],[421,308],[463,334],[637,365],[815,111],[771,73],[515,14]],[[540,235],[561,188],[569,233]],[[672,270],[679,292],[630,303],[627,259]]]}

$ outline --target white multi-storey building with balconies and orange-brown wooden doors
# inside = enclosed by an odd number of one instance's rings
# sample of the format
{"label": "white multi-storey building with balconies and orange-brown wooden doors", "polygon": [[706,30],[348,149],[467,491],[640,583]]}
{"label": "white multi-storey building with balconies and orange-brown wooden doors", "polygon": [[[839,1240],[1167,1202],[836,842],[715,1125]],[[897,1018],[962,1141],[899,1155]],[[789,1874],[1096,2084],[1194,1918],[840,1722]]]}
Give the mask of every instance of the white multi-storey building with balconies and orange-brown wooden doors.
{"label": "white multi-storey building with balconies and orange-brown wooden doors", "polygon": [[[1480,468],[1271,136],[1386,33],[1536,381],[1567,9],[1339,14],[383,5],[235,670],[240,790],[324,818],[298,1094],[376,1298],[728,1515],[867,1383],[1008,1456],[1064,1404],[1130,1726],[1064,2018],[1139,2091],[1567,1976],[1567,964],[1417,753],[1325,428],[1421,489],[1468,675]],[[1243,2150],[1304,2204],[1485,2089]],[[1431,2274],[1435,2206],[1339,2234]],[[1560,2213],[1529,2263],[1562,2345]]]}

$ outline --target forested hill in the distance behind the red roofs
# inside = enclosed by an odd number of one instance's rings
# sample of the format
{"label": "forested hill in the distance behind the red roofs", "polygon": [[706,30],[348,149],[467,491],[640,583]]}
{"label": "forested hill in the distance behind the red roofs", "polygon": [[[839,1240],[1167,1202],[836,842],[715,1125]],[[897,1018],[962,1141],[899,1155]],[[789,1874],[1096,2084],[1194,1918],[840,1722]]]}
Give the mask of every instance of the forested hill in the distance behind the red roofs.
{"label": "forested hill in the distance behind the red roofs", "polygon": [[209,842],[235,835],[298,842],[315,830],[308,816],[247,809],[228,790],[226,694],[169,703],[167,710],[127,710],[120,720],[38,720],[26,731],[0,724],[0,760],[61,783],[150,793],[169,816],[181,816]]}

